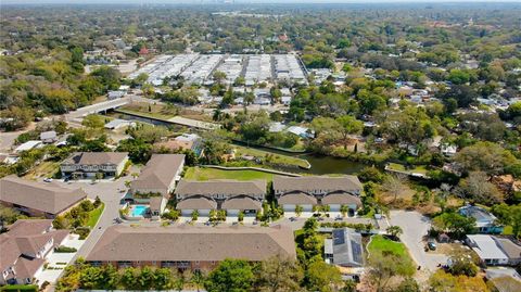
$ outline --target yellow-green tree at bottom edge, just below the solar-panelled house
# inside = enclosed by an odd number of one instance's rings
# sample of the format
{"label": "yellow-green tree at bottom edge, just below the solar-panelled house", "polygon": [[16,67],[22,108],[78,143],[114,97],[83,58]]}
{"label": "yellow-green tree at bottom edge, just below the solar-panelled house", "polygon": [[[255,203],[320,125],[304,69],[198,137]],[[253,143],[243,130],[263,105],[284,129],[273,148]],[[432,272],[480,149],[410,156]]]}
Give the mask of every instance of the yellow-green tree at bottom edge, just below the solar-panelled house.
{"label": "yellow-green tree at bottom edge, just below the solar-panelled house", "polygon": [[342,287],[342,275],[336,266],[313,261],[306,270],[306,282],[312,291],[332,292]]}

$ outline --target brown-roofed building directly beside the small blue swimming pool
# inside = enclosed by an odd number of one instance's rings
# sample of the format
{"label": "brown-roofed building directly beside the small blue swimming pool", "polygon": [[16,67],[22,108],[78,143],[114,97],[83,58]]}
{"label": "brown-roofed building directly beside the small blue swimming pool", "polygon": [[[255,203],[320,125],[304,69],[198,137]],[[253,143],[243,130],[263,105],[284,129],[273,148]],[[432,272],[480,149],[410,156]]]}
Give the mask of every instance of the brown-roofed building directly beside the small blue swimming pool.
{"label": "brown-roofed building directly beside the small blue swimming pool", "polygon": [[130,182],[130,193],[135,199],[140,194],[147,194],[147,198],[157,194],[169,198],[176,187],[176,181],[180,179],[185,167],[183,154],[153,154],[147,165],[143,167],[138,179]]}

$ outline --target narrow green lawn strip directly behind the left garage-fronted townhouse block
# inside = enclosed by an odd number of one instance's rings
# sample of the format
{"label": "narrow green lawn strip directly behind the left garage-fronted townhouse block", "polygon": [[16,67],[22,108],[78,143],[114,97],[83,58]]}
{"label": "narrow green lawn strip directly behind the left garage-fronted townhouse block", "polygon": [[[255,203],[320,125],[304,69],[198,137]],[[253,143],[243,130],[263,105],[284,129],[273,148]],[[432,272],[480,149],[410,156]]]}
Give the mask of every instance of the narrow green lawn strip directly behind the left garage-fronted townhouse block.
{"label": "narrow green lawn strip directly behind the left garage-fronted townhouse block", "polygon": [[256,170],[221,170],[215,168],[201,168],[190,167],[185,173],[186,179],[192,180],[209,180],[209,179],[238,179],[238,180],[252,180],[252,179],[266,179],[271,181],[274,179],[272,174],[256,172]]}

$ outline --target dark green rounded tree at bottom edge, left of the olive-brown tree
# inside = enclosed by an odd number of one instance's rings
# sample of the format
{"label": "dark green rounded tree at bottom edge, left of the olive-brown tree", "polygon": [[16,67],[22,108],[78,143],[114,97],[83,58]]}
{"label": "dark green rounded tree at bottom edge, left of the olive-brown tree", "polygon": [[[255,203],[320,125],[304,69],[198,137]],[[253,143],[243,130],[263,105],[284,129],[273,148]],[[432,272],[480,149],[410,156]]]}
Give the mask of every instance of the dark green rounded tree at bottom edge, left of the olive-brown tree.
{"label": "dark green rounded tree at bottom edge, left of the olive-brown tree", "polygon": [[254,279],[246,261],[227,258],[209,272],[204,287],[208,292],[246,292]]}

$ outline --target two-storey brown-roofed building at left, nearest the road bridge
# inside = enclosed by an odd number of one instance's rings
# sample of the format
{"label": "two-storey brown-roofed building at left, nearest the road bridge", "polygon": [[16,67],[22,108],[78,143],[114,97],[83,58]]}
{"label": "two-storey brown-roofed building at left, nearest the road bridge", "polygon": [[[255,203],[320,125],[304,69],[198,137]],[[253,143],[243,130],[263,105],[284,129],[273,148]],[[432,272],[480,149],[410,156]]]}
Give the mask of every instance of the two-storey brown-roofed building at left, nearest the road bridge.
{"label": "two-storey brown-roofed building at left, nearest the road bridge", "polygon": [[75,152],[62,162],[62,177],[103,178],[117,177],[128,162],[127,152]]}

